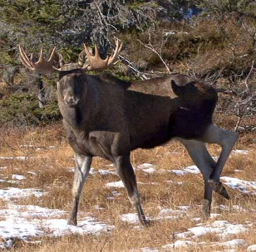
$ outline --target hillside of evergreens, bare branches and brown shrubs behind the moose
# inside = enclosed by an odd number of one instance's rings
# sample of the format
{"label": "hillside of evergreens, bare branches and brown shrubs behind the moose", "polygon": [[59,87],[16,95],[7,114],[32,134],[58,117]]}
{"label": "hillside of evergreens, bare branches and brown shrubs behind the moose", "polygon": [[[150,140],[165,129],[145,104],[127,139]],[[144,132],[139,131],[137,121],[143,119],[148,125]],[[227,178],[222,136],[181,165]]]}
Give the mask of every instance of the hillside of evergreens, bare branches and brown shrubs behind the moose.
{"label": "hillside of evergreens, bare branches and brown shrubs behind the moose", "polygon": [[77,60],[83,42],[96,43],[105,57],[117,37],[124,48],[113,74],[127,81],[168,73],[200,78],[221,91],[216,123],[255,130],[255,1],[1,0],[0,13],[1,126],[61,119],[56,75],[27,71],[19,43],[35,57],[40,47],[47,56],[57,45],[69,62]]}

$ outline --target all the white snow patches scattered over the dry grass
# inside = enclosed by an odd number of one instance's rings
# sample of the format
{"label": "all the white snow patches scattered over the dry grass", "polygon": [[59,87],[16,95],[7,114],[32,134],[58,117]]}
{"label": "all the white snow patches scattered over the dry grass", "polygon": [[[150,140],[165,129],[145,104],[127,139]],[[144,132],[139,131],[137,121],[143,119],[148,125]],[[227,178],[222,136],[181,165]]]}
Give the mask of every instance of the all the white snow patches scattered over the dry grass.
{"label": "all the white snow patches scattered over the dry grass", "polygon": [[[20,146],[21,147],[21,146]],[[23,146],[23,147],[34,147],[34,146]],[[46,148],[49,149],[50,147]],[[53,148],[56,148],[53,146]],[[44,148],[45,149],[45,148]],[[248,151],[234,150],[232,154],[247,154]],[[16,159],[25,161],[27,157],[0,157],[2,160]],[[112,166],[111,166],[112,167]],[[7,167],[0,167],[0,170],[4,170]],[[182,168],[181,170],[156,170],[152,164],[144,163],[137,166],[138,169],[145,173],[156,173],[156,172],[172,172],[177,175],[199,174],[199,169],[195,166],[188,166]],[[74,170],[74,168],[69,168]],[[90,174],[100,174],[117,175],[116,171],[113,169],[99,169],[95,170],[91,168]],[[35,172],[27,172],[30,175],[37,175]],[[8,177],[0,179],[0,182],[12,182],[19,183],[20,180],[24,180],[24,175],[13,174],[13,180],[5,180]],[[2,181],[3,180],[3,181]],[[255,195],[256,194],[256,182],[255,181],[245,181],[232,177],[221,177],[224,184],[228,185],[233,189],[238,189],[244,194]],[[166,180],[167,183],[176,183],[175,181]],[[183,184],[183,181],[178,182]],[[142,183],[138,184],[154,184],[154,183]],[[122,181],[109,182],[105,185],[107,188],[111,187],[124,187]],[[100,232],[111,231],[114,226],[107,225],[106,223],[96,221],[94,218],[86,216],[81,217],[77,226],[71,226],[67,224],[67,212],[59,209],[48,209],[33,205],[15,205],[15,199],[22,197],[34,196],[37,198],[42,197],[45,192],[41,192],[37,188],[25,188],[20,189],[16,187],[7,187],[0,190],[0,199],[7,202],[6,209],[0,210],[0,238],[3,238],[5,242],[0,242],[0,248],[9,248],[12,246],[12,239],[18,238],[24,241],[31,241],[31,238],[38,239],[41,236],[61,236],[68,234],[99,234]],[[114,196],[120,195],[120,193],[113,191],[111,199]],[[220,209],[226,209],[225,206],[220,206]],[[102,210],[98,206],[95,206],[96,210]],[[157,217],[148,217],[149,221],[162,221],[166,219],[178,219],[182,218],[187,212],[188,206],[177,207],[177,209],[165,209],[158,207],[159,214]],[[246,211],[239,206],[230,206],[229,209],[237,211]],[[211,214],[211,218],[220,216],[220,214]],[[139,222],[138,216],[135,213],[123,214],[120,216],[121,221],[128,222],[131,224],[136,224]],[[195,222],[201,221],[200,218],[193,218]],[[195,247],[200,244],[202,246],[222,246],[225,249],[235,249],[236,247],[244,247],[246,241],[243,239],[227,240],[230,235],[236,235],[241,232],[245,232],[251,227],[252,224],[236,224],[230,223],[226,220],[218,220],[211,223],[211,221],[206,223],[198,223],[195,227],[188,228],[186,232],[177,233],[175,235],[176,239],[174,243],[166,244],[162,246],[162,249],[172,249],[182,248],[188,249],[190,247]],[[192,239],[197,240],[201,235],[211,234],[215,236],[215,239],[221,240],[221,242],[210,242],[204,244],[203,242],[195,242]],[[172,240],[172,237],[170,237]],[[39,238],[40,239],[40,238]],[[256,251],[256,245],[249,246],[247,251]],[[161,249],[161,251],[162,251]],[[254,249],[254,250],[253,250]],[[208,249],[209,250],[209,249]],[[210,249],[211,250],[211,249]],[[143,252],[157,252],[160,251],[157,248],[144,247],[140,248],[139,251]]]}

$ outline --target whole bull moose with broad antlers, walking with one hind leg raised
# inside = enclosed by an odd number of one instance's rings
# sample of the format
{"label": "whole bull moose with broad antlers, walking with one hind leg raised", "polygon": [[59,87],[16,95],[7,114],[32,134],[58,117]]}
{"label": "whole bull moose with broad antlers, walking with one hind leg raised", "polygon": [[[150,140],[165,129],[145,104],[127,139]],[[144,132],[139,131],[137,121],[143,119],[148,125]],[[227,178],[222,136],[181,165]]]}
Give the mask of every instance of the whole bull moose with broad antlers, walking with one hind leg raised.
{"label": "whole bull moose with broad antlers, walking with one hind leg raised", "polygon": [[[209,215],[213,190],[229,199],[220,174],[238,138],[237,133],[213,124],[217,91],[207,83],[181,74],[134,82],[124,82],[108,73],[86,74],[89,70],[113,67],[121,49],[122,43],[116,40],[114,53],[102,59],[96,45],[92,55],[84,44],[78,62],[65,64],[56,47],[48,60],[41,49],[39,60],[34,62],[32,54],[29,58],[19,45],[20,59],[26,68],[40,74],[59,73],[58,104],[76,163],[68,223],[77,224],[83,184],[92,157],[98,156],[114,163],[140,222],[147,225],[130,153],[136,148],[153,148],[174,138],[185,146],[202,173],[202,213]],[[221,146],[217,162],[205,143]]]}

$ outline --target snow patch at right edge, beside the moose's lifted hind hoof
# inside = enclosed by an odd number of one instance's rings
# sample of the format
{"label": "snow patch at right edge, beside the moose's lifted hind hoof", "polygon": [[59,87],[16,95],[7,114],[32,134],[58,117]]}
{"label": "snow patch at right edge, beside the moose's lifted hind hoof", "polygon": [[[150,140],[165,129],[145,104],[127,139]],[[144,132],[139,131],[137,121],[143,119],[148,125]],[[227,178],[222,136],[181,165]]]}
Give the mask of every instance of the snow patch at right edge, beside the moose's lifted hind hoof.
{"label": "snow patch at right edge, beside the moose's lifted hind hoof", "polygon": [[256,195],[256,181],[246,181],[235,177],[221,177],[224,184],[232,189],[238,189],[246,195]]}

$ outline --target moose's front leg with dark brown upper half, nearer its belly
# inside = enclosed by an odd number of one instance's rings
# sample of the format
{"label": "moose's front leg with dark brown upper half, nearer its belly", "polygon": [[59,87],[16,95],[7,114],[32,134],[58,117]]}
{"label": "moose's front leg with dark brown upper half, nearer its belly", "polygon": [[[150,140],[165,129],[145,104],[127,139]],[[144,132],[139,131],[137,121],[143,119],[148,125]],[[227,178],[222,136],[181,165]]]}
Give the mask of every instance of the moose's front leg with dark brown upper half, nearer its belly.
{"label": "moose's front leg with dark brown upper half, nearer its belly", "polygon": [[130,163],[130,154],[115,158],[115,163],[117,173],[125,186],[128,199],[135,207],[141,224],[148,225],[140,204],[137,182],[132,165]]}

